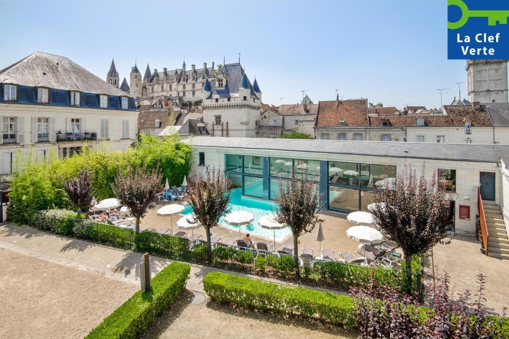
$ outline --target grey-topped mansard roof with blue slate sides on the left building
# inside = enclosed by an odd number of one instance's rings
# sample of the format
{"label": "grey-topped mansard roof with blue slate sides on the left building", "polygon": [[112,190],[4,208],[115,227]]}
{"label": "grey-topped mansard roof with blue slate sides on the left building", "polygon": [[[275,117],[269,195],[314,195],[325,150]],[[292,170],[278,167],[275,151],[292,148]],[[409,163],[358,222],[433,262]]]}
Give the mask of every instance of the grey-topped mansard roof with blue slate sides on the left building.
{"label": "grey-topped mansard roof with blue slate sides on the left building", "polygon": [[[1,70],[0,84],[17,85],[19,104],[38,104],[37,87],[49,88],[49,101],[45,105],[50,106],[71,106],[71,90],[81,92],[80,106],[88,108],[100,108],[99,94],[109,96],[108,109],[122,109],[120,97],[129,97],[69,58],[43,52],[35,52]],[[0,102],[4,102],[3,90],[0,92]],[[136,110],[131,97],[128,110]]]}

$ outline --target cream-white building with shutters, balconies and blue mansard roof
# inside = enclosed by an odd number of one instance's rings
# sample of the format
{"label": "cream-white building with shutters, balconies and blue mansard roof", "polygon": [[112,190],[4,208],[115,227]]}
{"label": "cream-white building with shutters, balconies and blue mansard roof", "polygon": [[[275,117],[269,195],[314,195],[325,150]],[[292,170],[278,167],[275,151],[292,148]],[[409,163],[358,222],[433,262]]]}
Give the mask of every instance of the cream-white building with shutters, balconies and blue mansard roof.
{"label": "cream-white building with shutters, balconies and blue mansard roof", "polygon": [[134,101],[67,57],[36,52],[0,71],[2,180],[18,150],[39,159],[51,148],[70,157],[92,150],[125,150],[137,139]]}

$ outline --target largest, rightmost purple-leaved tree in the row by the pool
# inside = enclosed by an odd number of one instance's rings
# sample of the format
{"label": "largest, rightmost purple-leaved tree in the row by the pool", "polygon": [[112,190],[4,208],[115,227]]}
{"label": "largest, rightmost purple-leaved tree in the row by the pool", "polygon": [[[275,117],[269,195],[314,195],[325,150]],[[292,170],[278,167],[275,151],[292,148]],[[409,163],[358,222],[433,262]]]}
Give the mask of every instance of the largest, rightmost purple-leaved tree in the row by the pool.
{"label": "largest, rightmost purple-leaved tree in the row by the pool", "polygon": [[[411,258],[425,254],[438,243],[449,243],[447,220],[449,198],[445,184],[436,172],[431,179],[420,176],[411,166],[405,166],[383,190],[375,191],[373,209],[376,227],[388,239],[397,242],[403,251],[408,281],[411,283]],[[411,286],[411,285],[410,285]]]}

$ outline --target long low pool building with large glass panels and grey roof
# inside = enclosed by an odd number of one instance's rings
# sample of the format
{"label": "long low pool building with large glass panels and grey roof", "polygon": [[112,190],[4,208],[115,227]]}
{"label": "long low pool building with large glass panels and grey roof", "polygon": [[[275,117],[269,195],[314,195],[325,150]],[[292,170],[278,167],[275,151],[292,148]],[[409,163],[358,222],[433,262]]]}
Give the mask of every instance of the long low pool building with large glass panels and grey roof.
{"label": "long low pool building with large glass panels and grey roof", "polygon": [[284,182],[295,169],[317,183],[324,210],[341,213],[367,210],[373,191],[393,183],[405,166],[423,169],[427,177],[437,175],[446,184],[454,205],[451,227],[459,233],[475,231],[478,188],[483,200],[502,203],[499,167],[501,157],[509,155],[509,145],[488,144],[221,137],[185,142],[191,145],[196,171],[224,169],[243,196],[277,199],[279,180]]}

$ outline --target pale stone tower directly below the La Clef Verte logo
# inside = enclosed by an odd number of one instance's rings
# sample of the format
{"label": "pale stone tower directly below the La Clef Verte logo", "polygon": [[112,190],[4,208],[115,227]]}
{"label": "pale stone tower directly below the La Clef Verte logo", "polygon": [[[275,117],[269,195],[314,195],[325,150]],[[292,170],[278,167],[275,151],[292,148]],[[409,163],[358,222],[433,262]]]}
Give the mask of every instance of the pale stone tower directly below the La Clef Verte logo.
{"label": "pale stone tower directly below the La Clef Verte logo", "polygon": [[507,101],[507,61],[467,60],[468,101]]}

